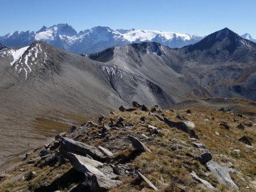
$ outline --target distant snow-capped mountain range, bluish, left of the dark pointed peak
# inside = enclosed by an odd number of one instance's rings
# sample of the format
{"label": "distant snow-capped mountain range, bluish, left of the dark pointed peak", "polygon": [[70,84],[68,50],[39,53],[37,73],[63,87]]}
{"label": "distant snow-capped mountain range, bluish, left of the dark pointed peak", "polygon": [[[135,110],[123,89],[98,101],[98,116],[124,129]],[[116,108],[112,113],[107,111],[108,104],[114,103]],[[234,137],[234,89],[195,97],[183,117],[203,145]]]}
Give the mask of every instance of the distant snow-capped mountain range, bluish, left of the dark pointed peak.
{"label": "distant snow-capped mountain range, bluish, left of the dark pointed peak", "polygon": [[94,53],[114,46],[122,46],[143,41],[155,41],[170,48],[180,48],[194,44],[203,37],[162,32],[154,30],[112,30],[109,27],[93,27],[79,33],[68,24],[56,24],[52,27],[43,26],[39,31],[15,31],[0,36],[0,43],[11,46],[27,46],[36,40],[55,45],[58,48],[74,53]]}

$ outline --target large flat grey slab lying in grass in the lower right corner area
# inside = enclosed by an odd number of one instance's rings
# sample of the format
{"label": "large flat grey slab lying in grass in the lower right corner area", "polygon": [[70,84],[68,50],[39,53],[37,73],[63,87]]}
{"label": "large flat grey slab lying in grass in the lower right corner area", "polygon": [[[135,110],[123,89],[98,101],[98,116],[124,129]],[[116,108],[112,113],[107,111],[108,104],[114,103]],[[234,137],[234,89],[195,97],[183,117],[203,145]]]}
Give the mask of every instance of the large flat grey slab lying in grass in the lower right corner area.
{"label": "large flat grey slab lying in grass in the lower right corner area", "polygon": [[227,169],[222,168],[220,165],[218,165],[214,161],[207,162],[207,168],[211,172],[216,174],[216,176],[218,177],[218,182],[228,185],[228,186],[233,187],[234,189],[238,190],[238,186],[236,185],[236,183],[233,182]]}

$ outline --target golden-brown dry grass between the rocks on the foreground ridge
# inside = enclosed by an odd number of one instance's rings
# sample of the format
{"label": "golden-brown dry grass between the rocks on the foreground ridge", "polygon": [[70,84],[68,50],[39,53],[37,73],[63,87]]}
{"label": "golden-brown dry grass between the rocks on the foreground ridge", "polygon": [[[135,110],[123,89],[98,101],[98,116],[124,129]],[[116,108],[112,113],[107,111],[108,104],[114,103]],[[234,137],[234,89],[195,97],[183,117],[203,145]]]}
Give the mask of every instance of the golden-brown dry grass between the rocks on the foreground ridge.
{"label": "golden-brown dry grass between the rocks on the foreground ridge", "polygon": [[[200,141],[205,144],[209,152],[213,155],[213,160],[218,162],[222,166],[229,166],[236,170],[235,173],[230,173],[233,181],[240,187],[241,191],[246,190],[246,186],[250,187],[251,191],[255,191],[256,176],[256,151],[255,151],[255,126],[246,127],[245,130],[239,130],[236,128],[238,123],[232,121],[233,118],[238,118],[242,123],[247,122],[249,119],[239,118],[236,115],[228,114],[226,112],[220,112],[212,110],[212,108],[190,108],[192,115],[185,113],[185,110],[172,112],[170,110],[164,111],[164,114],[168,119],[176,122],[180,121],[176,118],[177,112],[184,114],[185,118],[195,123],[194,130],[199,135]],[[126,124],[130,124],[131,128],[126,131],[111,131],[101,139],[97,137],[97,132],[100,128],[92,128],[89,131],[89,137],[81,135],[78,140],[91,145],[102,145],[109,148],[115,154],[115,158],[112,164],[123,164],[125,162],[132,170],[138,169],[144,174],[158,189],[163,191],[180,191],[184,189],[186,191],[209,191],[205,186],[199,182],[193,180],[189,173],[195,171],[200,178],[212,183],[218,191],[230,191],[229,187],[221,185],[217,182],[216,176],[210,173],[209,176],[205,176],[208,172],[204,165],[201,165],[198,161],[192,160],[192,157],[188,157],[186,153],[193,156],[200,154],[200,149],[192,146],[193,140],[189,138],[187,133],[177,130],[176,128],[170,128],[167,124],[159,122],[152,116],[148,116],[148,112],[141,110],[133,112],[117,112],[117,115],[109,115],[104,123],[108,123],[110,117],[117,120],[118,115],[122,115],[126,118]],[[141,122],[140,118],[145,116],[150,119],[147,124],[154,125],[159,128],[159,136],[150,136],[147,132],[147,128],[138,124]],[[212,120],[214,117],[214,120]],[[207,120],[208,119],[208,120]],[[228,122],[231,129],[225,130],[218,124]],[[254,122],[255,123],[255,122]],[[219,135],[216,135],[216,131]],[[125,138],[129,134],[141,135],[144,133],[148,135],[150,139],[140,140],[151,149],[153,153],[143,152],[141,155],[133,157],[134,148],[131,147],[129,142],[126,142]],[[241,136],[246,135],[253,143],[253,148],[247,148],[245,144],[237,141]],[[106,139],[108,137],[108,139]],[[119,145],[119,140],[123,140],[122,145]],[[234,152],[234,149],[240,149],[240,152]],[[39,151],[33,153],[28,159],[35,157],[39,154]],[[31,167],[23,161],[18,167],[7,172],[13,176],[19,174],[28,174],[29,170],[34,170],[37,174],[31,181],[12,181],[7,179],[0,183],[0,190],[7,191],[9,189],[15,190],[35,190],[40,186],[40,182],[52,183],[61,176],[61,174],[69,173],[72,166],[67,163],[61,166],[54,165],[39,169],[37,167]],[[19,168],[25,168],[24,172],[20,172]],[[49,177],[50,176],[50,177]],[[161,178],[162,177],[162,178]],[[147,184],[138,179],[133,172],[129,178],[121,178],[123,184],[110,191],[150,191]],[[252,180],[252,181],[250,181]],[[68,183],[67,186],[60,185],[57,189],[69,189],[73,183]]]}

